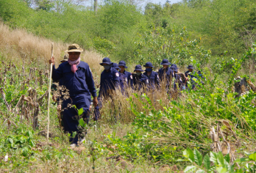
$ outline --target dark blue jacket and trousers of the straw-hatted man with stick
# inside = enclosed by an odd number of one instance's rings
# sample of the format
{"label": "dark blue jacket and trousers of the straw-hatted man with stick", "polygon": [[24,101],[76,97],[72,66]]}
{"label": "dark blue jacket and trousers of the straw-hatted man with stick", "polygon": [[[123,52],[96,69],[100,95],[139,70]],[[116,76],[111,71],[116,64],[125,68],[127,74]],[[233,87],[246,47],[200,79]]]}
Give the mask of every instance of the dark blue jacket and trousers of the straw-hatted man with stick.
{"label": "dark blue jacket and trousers of the straw-hatted man with stick", "polygon": [[[63,128],[65,132],[72,133],[78,131],[77,125],[78,117],[77,110],[75,108],[68,108],[69,104],[77,106],[77,108],[84,109],[83,118],[89,120],[89,108],[90,108],[90,94],[96,97],[96,89],[94,87],[94,81],[92,73],[90,72],[90,67],[85,62],[80,62],[77,65],[76,73],[71,71],[71,65],[68,62],[63,62],[56,69],[53,66],[52,79],[57,81],[60,80],[60,85],[65,86],[69,92],[69,98],[63,100]],[[77,144],[78,136],[74,139],[71,138],[70,141]]]}

